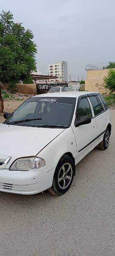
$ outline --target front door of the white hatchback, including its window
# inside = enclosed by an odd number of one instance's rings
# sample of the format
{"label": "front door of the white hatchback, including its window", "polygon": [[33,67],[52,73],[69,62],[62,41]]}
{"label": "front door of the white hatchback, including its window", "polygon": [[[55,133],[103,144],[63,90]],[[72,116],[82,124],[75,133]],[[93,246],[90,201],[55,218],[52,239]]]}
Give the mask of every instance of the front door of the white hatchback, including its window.
{"label": "front door of the white hatchback, including its window", "polygon": [[[78,99],[76,118],[79,119],[80,116],[90,116],[92,118],[91,103],[87,97],[80,97]],[[92,118],[91,123],[87,125],[80,125],[75,127],[72,125],[73,132],[75,134],[75,140],[77,145],[76,163],[78,163],[86,154],[89,153],[93,148],[95,148],[97,137],[97,126],[95,118]]]}

